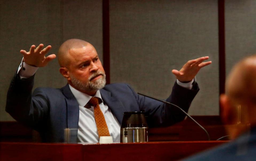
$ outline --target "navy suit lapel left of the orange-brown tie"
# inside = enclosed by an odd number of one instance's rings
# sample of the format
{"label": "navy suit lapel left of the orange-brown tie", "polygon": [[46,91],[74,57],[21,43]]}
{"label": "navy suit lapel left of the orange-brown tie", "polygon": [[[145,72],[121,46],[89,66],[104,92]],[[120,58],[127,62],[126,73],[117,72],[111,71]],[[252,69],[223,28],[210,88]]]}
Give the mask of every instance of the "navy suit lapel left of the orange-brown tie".
{"label": "navy suit lapel left of the orange-brown tie", "polygon": [[[78,129],[78,120],[79,120],[79,105],[71,92],[69,85],[63,87],[63,94],[66,96],[66,104],[67,104],[67,124],[69,129]],[[77,130],[76,130],[77,133]],[[77,134],[76,134],[77,135]]]}

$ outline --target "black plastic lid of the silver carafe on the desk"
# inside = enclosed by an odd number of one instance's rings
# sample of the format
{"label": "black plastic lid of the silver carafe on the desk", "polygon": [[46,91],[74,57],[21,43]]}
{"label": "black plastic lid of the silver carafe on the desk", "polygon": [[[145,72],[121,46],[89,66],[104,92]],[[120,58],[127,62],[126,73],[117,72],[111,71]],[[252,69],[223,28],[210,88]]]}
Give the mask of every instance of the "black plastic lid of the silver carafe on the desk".
{"label": "black plastic lid of the silver carafe on the desk", "polygon": [[121,128],[125,127],[148,127],[145,112],[124,112]]}

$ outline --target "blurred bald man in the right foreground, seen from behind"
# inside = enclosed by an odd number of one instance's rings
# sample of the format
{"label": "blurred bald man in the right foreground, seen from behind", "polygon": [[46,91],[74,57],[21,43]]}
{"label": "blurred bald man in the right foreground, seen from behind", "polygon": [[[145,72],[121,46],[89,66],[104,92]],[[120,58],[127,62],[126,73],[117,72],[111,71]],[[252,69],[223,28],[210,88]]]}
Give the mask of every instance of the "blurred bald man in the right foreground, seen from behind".
{"label": "blurred bald man in the right foreground, seen from behind", "polygon": [[233,141],[186,160],[256,159],[256,55],[237,63],[226,80],[226,94],[220,96],[222,120]]}

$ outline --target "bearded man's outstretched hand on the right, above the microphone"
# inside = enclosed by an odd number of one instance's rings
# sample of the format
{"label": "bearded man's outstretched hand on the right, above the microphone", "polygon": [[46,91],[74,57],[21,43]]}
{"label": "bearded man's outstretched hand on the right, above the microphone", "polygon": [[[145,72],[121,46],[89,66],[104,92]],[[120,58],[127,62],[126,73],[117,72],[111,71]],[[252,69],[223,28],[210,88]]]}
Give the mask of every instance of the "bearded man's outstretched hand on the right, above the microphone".
{"label": "bearded man's outstretched hand on the right, above the microphone", "polygon": [[189,60],[180,71],[173,69],[172,73],[181,82],[188,82],[194,79],[198,71],[206,65],[211,64],[211,61],[203,62],[209,59],[209,56],[200,57],[194,60]]}

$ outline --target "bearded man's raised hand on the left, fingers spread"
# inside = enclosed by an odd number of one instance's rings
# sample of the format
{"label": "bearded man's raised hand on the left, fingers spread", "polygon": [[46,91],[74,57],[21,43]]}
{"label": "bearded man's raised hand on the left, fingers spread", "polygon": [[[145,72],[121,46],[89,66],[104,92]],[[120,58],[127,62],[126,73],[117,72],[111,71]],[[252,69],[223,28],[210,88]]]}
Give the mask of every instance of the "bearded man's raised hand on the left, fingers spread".
{"label": "bearded man's raised hand on the left, fingers spread", "polygon": [[49,63],[49,61],[56,58],[56,55],[52,54],[45,57],[46,53],[52,48],[52,46],[49,45],[44,49],[43,47],[44,47],[44,44],[40,44],[37,48],[35,45],[32,45],[30,47],[29,52],[26,52],[25,50],[21,50],[20,53],[23,55],[23,61],[26,64],[34,67],[46,66]]}

